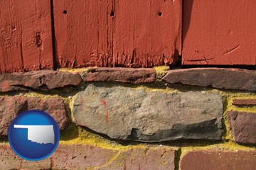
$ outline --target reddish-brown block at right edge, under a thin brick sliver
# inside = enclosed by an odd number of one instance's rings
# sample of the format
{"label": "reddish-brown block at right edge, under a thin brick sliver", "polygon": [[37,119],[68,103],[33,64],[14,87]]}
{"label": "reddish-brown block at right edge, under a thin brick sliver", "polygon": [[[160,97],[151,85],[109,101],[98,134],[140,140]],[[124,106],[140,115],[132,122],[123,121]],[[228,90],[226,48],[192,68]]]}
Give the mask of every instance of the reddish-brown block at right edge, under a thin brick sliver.
{"label": "reddish-brown block at right edge, under a thin brick sliver", "polygon": [[228,121],[235,142],[256,144],[256,113],[229,111]]}

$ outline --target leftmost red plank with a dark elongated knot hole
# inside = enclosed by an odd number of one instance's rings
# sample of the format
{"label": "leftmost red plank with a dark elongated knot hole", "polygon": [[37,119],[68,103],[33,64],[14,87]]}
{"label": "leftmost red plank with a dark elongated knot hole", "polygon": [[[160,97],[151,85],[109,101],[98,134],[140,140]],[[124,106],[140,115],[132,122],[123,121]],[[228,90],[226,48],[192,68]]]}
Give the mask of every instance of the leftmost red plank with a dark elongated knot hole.
{"label": "leftmost red plank with a dark elongated knot hole", "polygon": [[0,73],[52,68],[50,0],[0,1]]}

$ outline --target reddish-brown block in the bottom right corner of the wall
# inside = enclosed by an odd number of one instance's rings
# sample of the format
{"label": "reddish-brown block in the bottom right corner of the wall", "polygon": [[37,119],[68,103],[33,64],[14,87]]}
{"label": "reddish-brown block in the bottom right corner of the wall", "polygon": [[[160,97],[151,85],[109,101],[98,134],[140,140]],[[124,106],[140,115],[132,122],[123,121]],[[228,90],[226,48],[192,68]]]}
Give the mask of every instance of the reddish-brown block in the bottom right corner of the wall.
{"label": "reddish-brown block in the bottom right corner of the wall", "polygon": [[181,158],[181,170],[254,170],[256,167],[255,151],[215,151],[198,150],[188,152]]}

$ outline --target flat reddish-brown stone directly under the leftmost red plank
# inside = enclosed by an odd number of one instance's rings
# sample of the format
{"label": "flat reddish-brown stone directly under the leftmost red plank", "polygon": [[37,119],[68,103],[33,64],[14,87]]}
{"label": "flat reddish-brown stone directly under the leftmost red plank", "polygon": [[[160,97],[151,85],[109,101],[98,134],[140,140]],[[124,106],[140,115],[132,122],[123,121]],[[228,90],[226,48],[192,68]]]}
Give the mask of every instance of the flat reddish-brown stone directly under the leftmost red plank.
{"label": "flat reddish-brown stone directly under the leftmost red plank", "polygon": [[53,70],[0,74],[0,92],[28,89],[48,91],[65,86],[78,86],[81,81],[78,73]]}

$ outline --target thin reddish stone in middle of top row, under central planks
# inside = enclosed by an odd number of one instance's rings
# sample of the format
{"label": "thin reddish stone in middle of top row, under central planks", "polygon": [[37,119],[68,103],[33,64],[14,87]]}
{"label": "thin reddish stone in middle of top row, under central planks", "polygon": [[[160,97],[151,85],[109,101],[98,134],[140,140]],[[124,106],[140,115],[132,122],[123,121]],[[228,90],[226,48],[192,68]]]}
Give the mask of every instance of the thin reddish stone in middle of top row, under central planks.
{"label": "thin reddish stone in middle of top row, under central planks", "polygon": [[116,81],[133,84],[156,81],[154,69],[144,68],[92,68],[81,74],[84,81]]}

